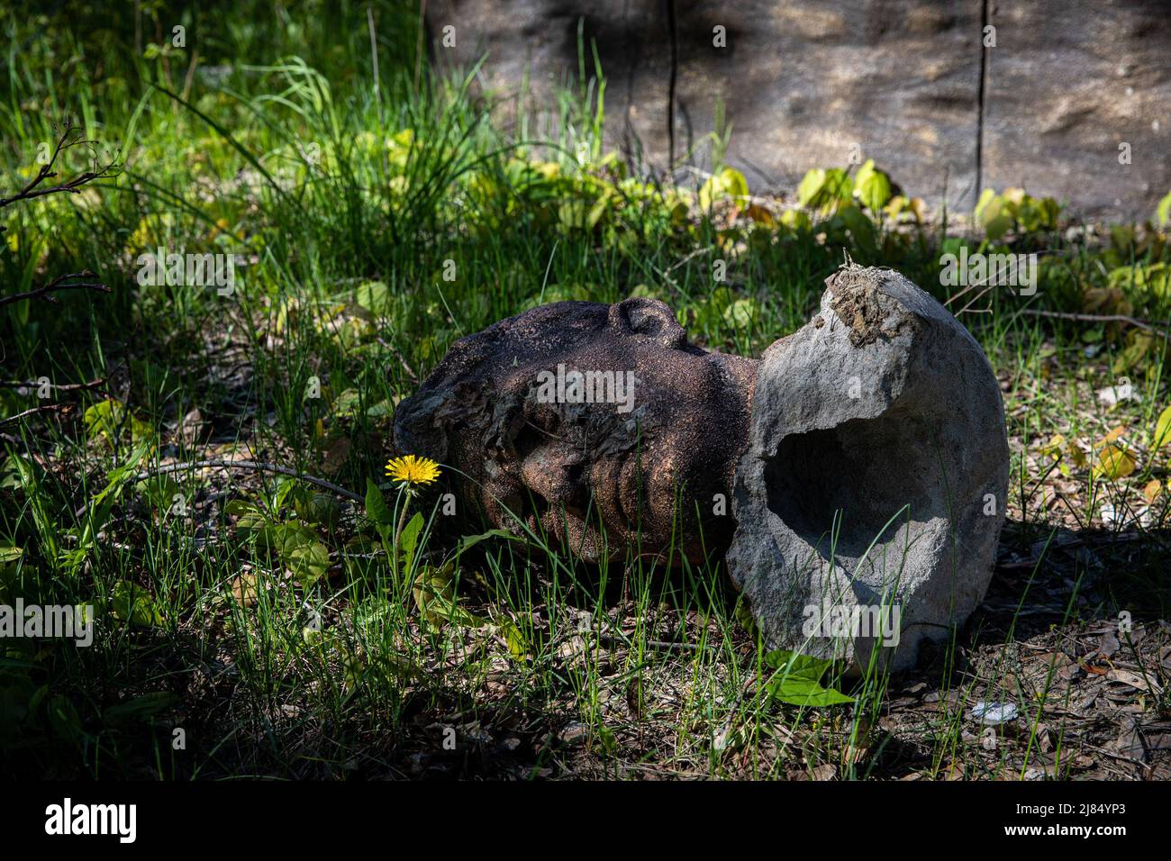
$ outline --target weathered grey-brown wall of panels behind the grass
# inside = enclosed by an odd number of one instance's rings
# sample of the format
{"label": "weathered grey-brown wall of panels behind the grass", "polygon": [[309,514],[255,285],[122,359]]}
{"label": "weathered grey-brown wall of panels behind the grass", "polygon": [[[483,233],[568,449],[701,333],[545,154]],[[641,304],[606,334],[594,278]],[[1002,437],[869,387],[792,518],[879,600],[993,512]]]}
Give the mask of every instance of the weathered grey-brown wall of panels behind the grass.
{"label": "weathered grey-brown wall of panels behind the grass", "polygon": [[677,159],[694,148],[689,163],[710,164],[723,103],[727,162],[754,189],[852,156],[958,211],[1016,185],[1086,217],[1148,218],[1171,190],[1169,0],[431,0],[426,14],[439,66],[486,53],[479,86],[539,122],[577,80],[580,27],[607,77],[609,144],[660,170],[672,135]]}

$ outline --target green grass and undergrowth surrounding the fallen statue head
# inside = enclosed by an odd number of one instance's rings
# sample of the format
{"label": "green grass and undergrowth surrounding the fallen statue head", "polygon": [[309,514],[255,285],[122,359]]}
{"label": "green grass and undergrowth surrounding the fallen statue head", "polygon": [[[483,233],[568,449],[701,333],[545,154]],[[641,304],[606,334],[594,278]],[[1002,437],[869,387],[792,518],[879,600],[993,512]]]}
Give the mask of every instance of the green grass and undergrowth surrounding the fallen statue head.
{"label": "green grass and undergrowth surrounding the fallen statue head", "polygon": [[[412,11],[376,6],[377,94],[365,5],[317,15],[314,27],[295,15],[258,28],[246,9],[174,19],[190,47],[141,54],[126,22],[117,32],[84,21],[47,29],[18,13],[2,21],[12,46],[0,74],[4,187],[35,173],[37,148],[67,116],[98,157],[110,146],[123,165],[78,194],[2,211],[6,293],[82,268],[112,288],[0,308],[2,380],[105,381],[61,396],[69,410],[0,425],[0,545],[20,548],[0,556],[0,597],[93,603],[98,614],[90,648],[5,643],[5,773],[1090,771],[1077,760],[1084,739],[1060,756],[1069,743],[1050,713],[1068,709],[1075,685],[1029,676],[1028,648],[1061,645],[1086,663],[1070,642],[1119,609],[1148,630],[1167,619],[1166,493],[1121,538],[1101,519],[1103,501],[1134,507],[1165,479],[1155,439],[1165,341],[1027,312],[1165,327],[1165,233],[1018,225],[989,241],[979,224],[949,235],[938,218],[858,207],[869,226],[841,209],[809,210],[808,227],[786,223],[776,200],[760,204],[769,218],[734,213],[728,197],[701,207],[703,176],[673,186],[608,157],[596,88],[563,94],[556,139],[532,139],[523,124],[502,130],[471,74],[416,76]],[[157,27],[144,16],[144,43],[169,32],[167,14]],[[226,62],[226,75],[203,71]],[[87,148],[67,151],[63,175],[87,159]],[[463,335],[542,301],[637,292],[666,301],[697,342],[759,356],[808,319],[845,253],[947,300],[939,257],[959,241],[1043,252],[1036,296],[992,291],[960,317],[1004,381],[1013,499],[988,607],[1009,609],[981,610],[910,678],[831,674],[851,705],[772,701],[774,671],[715,558],[667,568],[631,553],[588,566],[539,534],[461,549],[486,527],[453,525],[434,493],[411,503],[423,526],[409,559],[396,541],[406,500],[383,478],[397,453],[393,405]],[[139,286],[136,258],[157,246],[240,255],[238,289]],[[713,280],[717,260],[726,281]],[[1094,392],[1122,376],[1142,399],[1107,411]],[[0,421],[41,404],[35,391],[0,388]],[[1119,425],[1135,473],[1094,476],[1090,445]],[[1041,451],[1055,433],[1090,459],[1078,464],[1066,447],[1055,463]],[[390,512],[379,524],[363,503],[263,472],[137,480],[207,458],[278,464],[362,499],[372,479]],[[176,494],[185,513],[171,512]],[[1062,528],[1076,547],[1060,544]],[[430,592],[417,588],[424,573]],[[1023,611],[1048,604],[1059,609]],[[1166,688],[1156,636],[1127,665]],[[1018,691],[1026,732],[1002,734],[989,757],[965,715],[1006,674],[1032,685]],[[906,692],[917,684],[925,689]],[[1163,713],[1164,697],[1152,691],[1143,713]]]}

